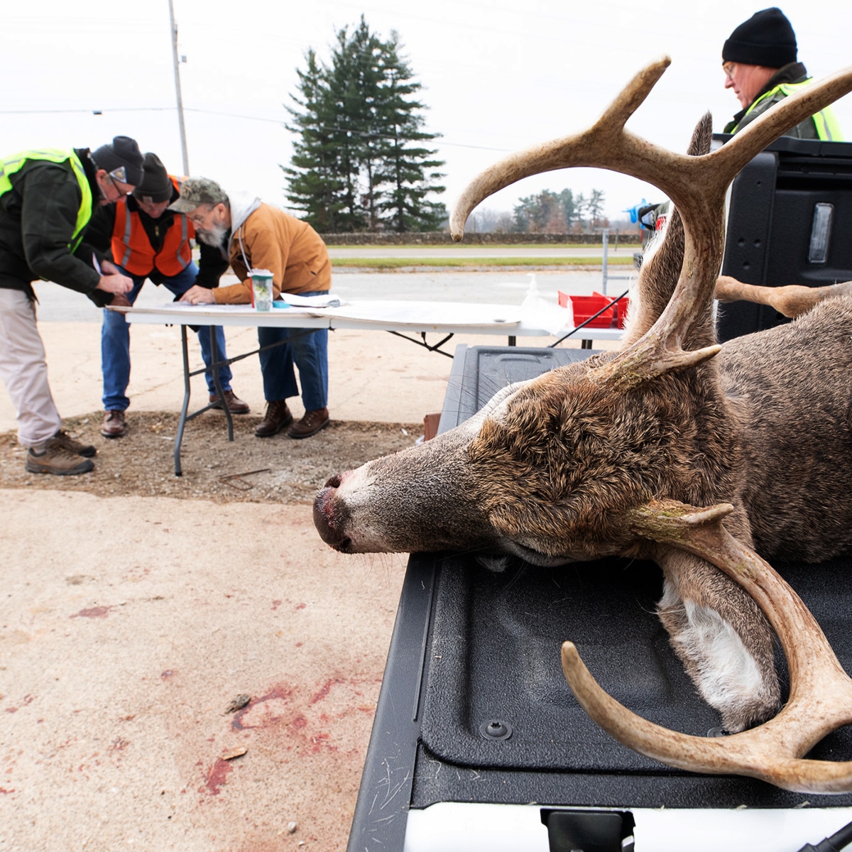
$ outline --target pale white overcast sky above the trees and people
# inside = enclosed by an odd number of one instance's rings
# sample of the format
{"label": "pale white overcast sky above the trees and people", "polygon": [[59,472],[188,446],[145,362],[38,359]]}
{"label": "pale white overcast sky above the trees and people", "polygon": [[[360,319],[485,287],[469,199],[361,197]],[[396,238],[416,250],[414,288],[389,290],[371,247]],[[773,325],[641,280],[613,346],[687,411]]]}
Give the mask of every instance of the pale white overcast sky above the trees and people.
{"label": "pale white overcast sky above the trees and people", "polygon": [[[448,207],[499,158],[588,127],[649,60],[672,64],[630,119],[634,132],[683,150],[705,110],[714,130],[740,107],[722,88],[722,43],[763,4],[740,0],[174,0],[193,175],[287,206],[285,105],[314,48],[328,60],[343,26],[364,14],[395,30],[429,106],[426,129],[446,160]],[[852,64],[849,0],[781,4],[799,60],[816,78]],[[27,147],[92,147],[134,136],[180,174],[168,0],[38,0],[3,9],[0,155]],[[852,95],[836,105],[852,140]],[[93,111],[101,111],[95,115]],[[600,170],[527,178],[485,202],[511,210],[542,189],[606,193],[610,217],[661,193]]]}

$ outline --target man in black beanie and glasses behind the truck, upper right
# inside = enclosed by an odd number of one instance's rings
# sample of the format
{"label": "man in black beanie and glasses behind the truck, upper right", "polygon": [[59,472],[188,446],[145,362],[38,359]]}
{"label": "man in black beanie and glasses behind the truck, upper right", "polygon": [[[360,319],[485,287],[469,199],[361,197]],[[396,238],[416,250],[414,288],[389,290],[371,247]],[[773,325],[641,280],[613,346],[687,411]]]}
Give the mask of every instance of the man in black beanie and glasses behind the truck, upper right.
{"label": "man in black beanie and glasses behind the truck, upper right", "polygon": [[[734,89],[742,110],[725,126],[737,133],[774,104],[812,80],[797,61],[796,33],[786,15],[775,7],[755,12],[740,24],[722,47],[725,88]],[[800,139],[842,140],[831,107],[805,118],[786,135]]]}

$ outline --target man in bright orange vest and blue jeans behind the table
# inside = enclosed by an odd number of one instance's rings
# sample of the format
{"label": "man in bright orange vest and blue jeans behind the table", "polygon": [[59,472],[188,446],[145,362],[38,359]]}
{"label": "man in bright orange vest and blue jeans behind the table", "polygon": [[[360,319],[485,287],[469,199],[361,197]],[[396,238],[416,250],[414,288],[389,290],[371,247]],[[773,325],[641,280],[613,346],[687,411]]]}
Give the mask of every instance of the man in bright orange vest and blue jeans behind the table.
{"label": "man in bright orange vest and blue jeans behind the table", "polygon": [[[189,240],[195,235],[192,222],[186,216],[169,210],[169,204],[181,197],[180,181],[169,172],[160,158],[150,151],[145,155],[145,176],[133,193],[116,204],[97,210],[92,218],[87,239],[96,249],[110,252],[121,273],[133,279],[133,289],[126,296],[132,305],[136,296],[151,279],[155,285],[164,285],[175,296],[182,296],[193,285],[212,288],[227,268],[222,253],[210,245],[200,243],[200,269],[193,261]],[[127,385],[130,382],[130,326],[124,314],[103,312],[101,325],[101,372],[103,373],[103,405],[105,409],[101,435],[121,438],[127,426],[124,412],[130,406]],[[210,372],[210,332],[216,335],[219,358],[225,353],[225,332],[222,326],[204,325],[199,328],[199,343],[204,365],[210,403],[222,408],[216,394],[216,385]],[[219,367],[219,383],[225,404],[233,414],[247,414],[249,406],[231,389],[231,368]]]}

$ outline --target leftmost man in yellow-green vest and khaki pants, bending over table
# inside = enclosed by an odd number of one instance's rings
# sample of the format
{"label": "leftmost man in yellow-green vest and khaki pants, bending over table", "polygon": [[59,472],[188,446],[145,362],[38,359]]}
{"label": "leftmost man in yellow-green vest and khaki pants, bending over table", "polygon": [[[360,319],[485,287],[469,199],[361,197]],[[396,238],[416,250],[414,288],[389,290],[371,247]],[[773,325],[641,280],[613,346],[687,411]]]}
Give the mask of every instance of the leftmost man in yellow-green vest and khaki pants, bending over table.
{"label": "leftmost man in yellow-green vest and khaki pants, bending over table", "polygon": [[18,412],[30,473],[66,476],[95,467],[95,447],[62,430],[32,281],[53,281],[100,306],[129,292],[133,282],[83,236],[99,204],[117,201],[141,181],[142,154],[129,136],[95,153],[43,148],[0,159],[0,376]]}

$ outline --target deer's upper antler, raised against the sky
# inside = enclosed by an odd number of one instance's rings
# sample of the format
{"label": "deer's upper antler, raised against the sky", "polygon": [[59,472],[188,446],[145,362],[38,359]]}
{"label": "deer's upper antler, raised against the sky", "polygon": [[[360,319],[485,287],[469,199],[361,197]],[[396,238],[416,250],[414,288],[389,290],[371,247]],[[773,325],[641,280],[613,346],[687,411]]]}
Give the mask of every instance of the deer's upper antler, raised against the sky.
{"label": "deer's upper antler, raised against the sky", "polygon": [[[665,57],[636,74],[596,124],[578,135],[513,154],[471,182],[451,217],[452,239],[476,204],[522,177],[570,166],[596,166],[641,178],[663,190],[680,211],[684,256],[671,301],[653,326],[607,364],[590,370],[597,383],[630,388],[671,370],[695,366],[717,354],[708,345],[682,347],[699,317],[709,310],[722,262],[722,214],[730,181],[770,141],[852,90],[852,68],[785,98],[749,124],[727,145],[700,157],[673,153],[625,130],[625,122],[648,96],[670,61]],[[706,343],[712,343],[707,340]]]}

